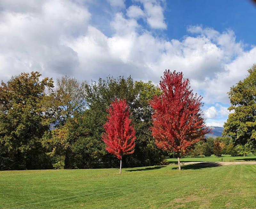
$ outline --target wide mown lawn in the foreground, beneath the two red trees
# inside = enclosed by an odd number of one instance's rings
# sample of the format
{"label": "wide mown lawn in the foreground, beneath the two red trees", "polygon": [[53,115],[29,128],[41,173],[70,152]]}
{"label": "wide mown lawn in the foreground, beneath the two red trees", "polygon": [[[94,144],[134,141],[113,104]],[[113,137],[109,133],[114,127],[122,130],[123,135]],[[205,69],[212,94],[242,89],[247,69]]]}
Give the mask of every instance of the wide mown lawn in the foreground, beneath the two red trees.
{"label": "wide mown lawn in the foreground, beneath the two red trees", "polygon": [[0,172],[0,208],[255,208],[256,165]]}

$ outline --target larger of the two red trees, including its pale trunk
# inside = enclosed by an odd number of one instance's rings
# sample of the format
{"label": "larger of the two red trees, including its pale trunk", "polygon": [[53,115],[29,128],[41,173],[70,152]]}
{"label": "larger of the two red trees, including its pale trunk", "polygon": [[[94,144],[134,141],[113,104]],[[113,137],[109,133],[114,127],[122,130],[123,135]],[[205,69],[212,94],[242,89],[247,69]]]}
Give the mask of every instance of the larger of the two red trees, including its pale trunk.
{"label": "larger of the two red trees, including its pale trunk", "polygon": [[162,94],[150,101],[155,110],[151,131],[160,149],[177,153],[181,170],[180,155],[211,130],[204,125],[202,97],[192,93],[182,72],[165,70],[161,79]]}

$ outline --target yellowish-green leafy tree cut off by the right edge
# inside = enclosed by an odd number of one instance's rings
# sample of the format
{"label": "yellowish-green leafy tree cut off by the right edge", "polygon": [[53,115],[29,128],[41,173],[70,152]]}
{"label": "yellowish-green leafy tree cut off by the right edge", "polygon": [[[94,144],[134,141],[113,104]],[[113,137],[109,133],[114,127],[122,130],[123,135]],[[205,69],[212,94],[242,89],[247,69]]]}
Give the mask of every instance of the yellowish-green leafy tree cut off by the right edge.
{"label": "yellowish-green leafy tree cut off by the right edge", "polygon": [[232,137],[234,145],[249,143],[256,147],[256,64],[249,75],[228,92],[231,113],[224,124],[223,135]]}

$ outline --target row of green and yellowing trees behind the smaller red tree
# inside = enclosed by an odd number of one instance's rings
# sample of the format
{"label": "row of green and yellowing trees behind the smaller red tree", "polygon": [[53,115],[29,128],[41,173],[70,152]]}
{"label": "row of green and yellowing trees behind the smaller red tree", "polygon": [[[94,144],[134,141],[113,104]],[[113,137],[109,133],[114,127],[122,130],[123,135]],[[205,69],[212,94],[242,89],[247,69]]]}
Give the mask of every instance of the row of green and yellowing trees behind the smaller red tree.
{"label": "row of green and yellowing trees behind the smaller red tree", "polygon": [[13,76],[0,88],[0,169],[111,168],[118,160],[101,140],[106,108],[125,99],[136,130],[134,153],[123,166],[165,163],[167,155],[151,136],[148,101],[160,90],[131,77],[79,82],[62,76],[39,79],[39,72]]}

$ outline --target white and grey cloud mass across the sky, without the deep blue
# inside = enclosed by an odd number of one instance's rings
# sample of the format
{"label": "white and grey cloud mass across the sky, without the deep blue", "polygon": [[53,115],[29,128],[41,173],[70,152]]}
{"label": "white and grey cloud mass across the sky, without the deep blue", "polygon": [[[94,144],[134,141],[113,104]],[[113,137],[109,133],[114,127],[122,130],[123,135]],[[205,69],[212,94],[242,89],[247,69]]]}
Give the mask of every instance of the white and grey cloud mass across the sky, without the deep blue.
{"label": "white and grey cloud mass across the sky, without the deep blue", "polygon": [[188,35],[180,40],[156,37],[151,28],[167,28],[164,1],[134,2],[125,8],[124,1],[109,1],[110,6],[124,9],[109,11],[109,16],[104,13],[112,31],[107,35],[92,24],[95,11],[80,0],[30,0],[24,4],[2,0],[1,78],[7,81],[22,71],[37,70],[53,78],[69,74],[98,80],[108,75],[131,75],[135,80],[158,84],[165,69],[182,71],[191,81],[191,89],[208,104],[204,111],[207,123],[222,126],[225,119],[215,119],[227,117],[228,112],[220,104],[228,106],[227,92],[248,74],[256,47],[245,51],[232,30],[203,26],[188,26]]}

